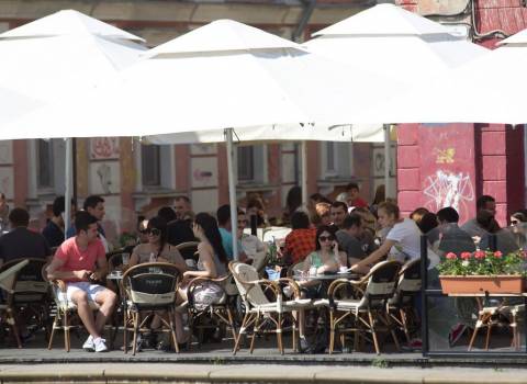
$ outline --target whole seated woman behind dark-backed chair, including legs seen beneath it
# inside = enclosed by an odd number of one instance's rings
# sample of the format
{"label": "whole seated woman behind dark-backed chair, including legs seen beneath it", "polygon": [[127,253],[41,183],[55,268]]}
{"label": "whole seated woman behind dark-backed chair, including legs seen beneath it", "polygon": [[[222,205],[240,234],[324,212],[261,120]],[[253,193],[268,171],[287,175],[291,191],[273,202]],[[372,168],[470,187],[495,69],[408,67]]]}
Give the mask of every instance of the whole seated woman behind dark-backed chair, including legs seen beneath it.
{"label": "whole seated woman behind dark-backed chair, including legs seen beneath it", "polygon": [[[139,244],[134,248],[130,258],[130,267],[146,262],[169,262],[175,264],[180,272],[187,271],[187,264],[181,253],[167,242],[167,222],[162,217],[156,216],[149,219],[146,234],[148,242]],[[164,315],[164,313],[158,313],[154,317],[150,324],[152,329],[157,329],[161,326],[161,320],[158,316]],[[149,340],[150,347],[156,347],[155,334],[152,335]],[[180,314],[176,314],[176,336],[179,342],[184,342],[187,339]],[[138,345],[141,349],[141,341]],[[157,348],[165,349],[167,343],[161,342]]]}

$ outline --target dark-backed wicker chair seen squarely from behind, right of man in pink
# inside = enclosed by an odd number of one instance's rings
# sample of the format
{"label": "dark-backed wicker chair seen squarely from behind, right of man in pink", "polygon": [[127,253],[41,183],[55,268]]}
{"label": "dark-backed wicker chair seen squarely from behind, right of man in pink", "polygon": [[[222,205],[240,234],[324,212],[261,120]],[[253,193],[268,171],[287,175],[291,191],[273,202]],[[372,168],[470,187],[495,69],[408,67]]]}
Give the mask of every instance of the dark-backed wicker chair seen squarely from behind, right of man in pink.
{"label": "dark-backed wicker chair seen squarely from behind, right of man in pink", "polygon": [[[132,354],[135,355],[138,335],[155,331],[147,327],[147,324],[156,314],[162,324],[157,331],[170,334],[176,352],[179,353],[175,313],[180,275],[181,272],[175,264],[165,262],[142,263],[124,272],[124,353],[127,353],[127,332],[133,332]],[[164,318],[160,312],[166,313],[168,319]]]}

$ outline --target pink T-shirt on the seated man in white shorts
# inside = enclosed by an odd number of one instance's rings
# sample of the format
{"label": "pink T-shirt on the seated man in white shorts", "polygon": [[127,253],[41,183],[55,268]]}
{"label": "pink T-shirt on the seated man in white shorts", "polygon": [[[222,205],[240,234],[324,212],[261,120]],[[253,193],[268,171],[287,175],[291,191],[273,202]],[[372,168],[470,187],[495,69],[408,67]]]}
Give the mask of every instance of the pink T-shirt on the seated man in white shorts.
{"label": "pink T-shirt on the seated man in white shorts", "polygon": [[[96,261],[99,259],[105,259],[106,253],[104,251],[104,246],[100,239],[94,239],[88,244],[86,250],[79,249],[76,237],[71,237],[64,241],[60,247],[58,247],[55,252],[55,257],[59,260],[64,260],[65,263],[60,268],[60,271],[80,271],[88,270],[94,271]],[[79,279],[68,279],[68,282],[81,281]]]}

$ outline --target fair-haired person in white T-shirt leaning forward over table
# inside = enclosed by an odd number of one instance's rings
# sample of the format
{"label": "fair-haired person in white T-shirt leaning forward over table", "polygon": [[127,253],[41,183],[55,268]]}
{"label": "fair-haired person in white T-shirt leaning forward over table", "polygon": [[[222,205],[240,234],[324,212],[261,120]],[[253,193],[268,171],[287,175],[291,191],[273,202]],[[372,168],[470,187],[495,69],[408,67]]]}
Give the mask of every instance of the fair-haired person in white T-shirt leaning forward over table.
{"label": "fair-haired person in white T-shirt leaning forward over table", "polygon": [[417,259],[421,256],[421,230],[413,219],[401,217],[399,206],[390,202],[379,204],[378,215],[379,224],[383,228],[392,227],[392,229],[378,250],[351,267],[355,272],[368,273],[370,266],[389,253],[390,259],[401,262]]}

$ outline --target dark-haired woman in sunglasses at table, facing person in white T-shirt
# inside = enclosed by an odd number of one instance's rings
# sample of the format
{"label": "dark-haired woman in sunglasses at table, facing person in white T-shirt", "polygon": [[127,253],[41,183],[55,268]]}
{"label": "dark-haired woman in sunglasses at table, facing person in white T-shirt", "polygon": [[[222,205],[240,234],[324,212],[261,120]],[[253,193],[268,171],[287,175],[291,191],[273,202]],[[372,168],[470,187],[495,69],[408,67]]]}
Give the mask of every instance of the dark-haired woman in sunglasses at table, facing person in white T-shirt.
{"label": "dark-haired woman in sunglasses at table, facing person in white T-shirt", "polygon": [[[302,272],[304,274],[323,274],[337,272],[340,267],[347,267],[346,253],[338,250],[335,237],[335,227],[321,226],[316,231],[315,250],[304,260]],[[319,280],[303,280],[298,282],[302,297],[316,298],[322,295]],[[299,310],[299,334],[301,349],[306,349],[304,310]]]}

